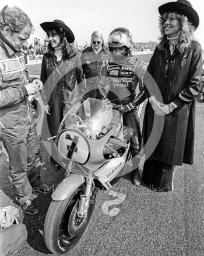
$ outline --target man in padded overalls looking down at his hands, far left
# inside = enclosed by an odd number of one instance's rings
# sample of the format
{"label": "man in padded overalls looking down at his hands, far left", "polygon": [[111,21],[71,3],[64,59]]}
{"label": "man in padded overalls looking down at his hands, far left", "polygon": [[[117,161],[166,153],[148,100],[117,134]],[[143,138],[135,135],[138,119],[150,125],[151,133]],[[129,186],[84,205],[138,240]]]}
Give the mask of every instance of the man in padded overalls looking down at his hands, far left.
{"label": "man in padded overalls looking down at his hands, far left", "polygon": [[33,30],[30,18],[16,6],[0,11],[0,140],[9,156],[9,172],[16,200],[23,211],[36,215],[35,193],[51,192],[40,177],[40,144],[28,96],[43,88],[29,78],[23,54]]}

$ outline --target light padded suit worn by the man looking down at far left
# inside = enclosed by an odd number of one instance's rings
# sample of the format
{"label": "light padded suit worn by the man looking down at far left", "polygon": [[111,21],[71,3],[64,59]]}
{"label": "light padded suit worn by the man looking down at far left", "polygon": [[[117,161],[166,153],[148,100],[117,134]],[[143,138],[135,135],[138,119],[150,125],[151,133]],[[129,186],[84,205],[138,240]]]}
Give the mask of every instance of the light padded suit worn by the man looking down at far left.
{"label": "light padded suit worn by the man looking down at far left", "polygon": [[9,156],[10,177],[20,205],[31,199],[32,188],[42,185],[40,145],[24,87],[31,81],[24,56],[0,33],[0,141]]}

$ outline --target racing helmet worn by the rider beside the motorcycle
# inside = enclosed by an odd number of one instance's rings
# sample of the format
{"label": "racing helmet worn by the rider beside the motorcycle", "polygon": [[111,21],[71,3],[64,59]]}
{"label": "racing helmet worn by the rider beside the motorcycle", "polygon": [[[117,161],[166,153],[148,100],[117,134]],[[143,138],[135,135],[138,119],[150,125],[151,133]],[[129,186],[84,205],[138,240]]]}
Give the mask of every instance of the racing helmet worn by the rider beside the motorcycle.
{"label": "racing helmet worn by the rider beside the motorcycle", "polygon": [[108,47],[115,48],[122,46],[126,46],[128,49],[131,49],[132,35],[129,32],[129,29],[126,29],[125,27],[118,27],[110,33],[108,37]]}

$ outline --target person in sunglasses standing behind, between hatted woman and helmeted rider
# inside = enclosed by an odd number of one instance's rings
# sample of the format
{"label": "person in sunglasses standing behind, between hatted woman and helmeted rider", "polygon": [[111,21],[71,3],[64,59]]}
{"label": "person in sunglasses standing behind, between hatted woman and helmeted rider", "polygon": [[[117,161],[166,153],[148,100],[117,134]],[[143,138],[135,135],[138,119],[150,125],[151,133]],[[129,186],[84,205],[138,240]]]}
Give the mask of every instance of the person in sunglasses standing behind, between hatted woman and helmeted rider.
{"label": "person in sunglasses standing behind, between hatted woman and helmeted rider", "polygon": [[97,80],[103,61],[107,60],[108,54],[105,50],[103,34],[94,31],[91,37],[91,46],[82,51],[81,62],[83,74],[86,78],[87,96],[97,98],[99,94]]}

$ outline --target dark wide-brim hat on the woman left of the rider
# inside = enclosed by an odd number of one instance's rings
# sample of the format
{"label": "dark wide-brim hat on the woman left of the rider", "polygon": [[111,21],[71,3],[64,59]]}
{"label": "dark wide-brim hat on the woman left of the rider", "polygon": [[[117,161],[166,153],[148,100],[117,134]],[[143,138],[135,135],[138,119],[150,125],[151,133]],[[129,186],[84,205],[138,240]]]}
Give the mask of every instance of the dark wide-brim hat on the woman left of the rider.
{"label": "dark wide-brim hat on the woman left of the rider", "polygon": [[55,19],[53,22],[43,22],[40,24],[40,26],[45,32],[50,29],[59,29],[61,27],[64,30],[66,40],[68,40],[69,43],[73,43],[73,41],[75,40],[75,36],[72,30],[69,29],[69,27],[66,26],[66,24],[62,20]]}

